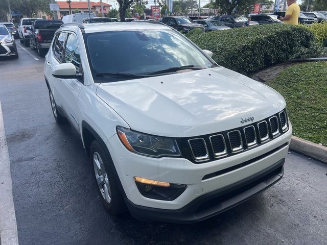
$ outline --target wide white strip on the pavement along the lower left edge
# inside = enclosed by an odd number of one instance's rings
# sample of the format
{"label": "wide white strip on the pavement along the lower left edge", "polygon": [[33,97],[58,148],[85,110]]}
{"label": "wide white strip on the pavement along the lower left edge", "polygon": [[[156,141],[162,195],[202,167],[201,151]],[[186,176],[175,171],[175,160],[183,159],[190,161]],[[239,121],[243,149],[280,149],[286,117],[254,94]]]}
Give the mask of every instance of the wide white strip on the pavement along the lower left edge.
{"label": "wide white strip on the pavement along the lower left edge", "polygon": [[14,201],[12,198],[12,181],[10,160],[5,134],[4,119],[0,102],[0,238],[1,245],[18,245],[18,234]]}

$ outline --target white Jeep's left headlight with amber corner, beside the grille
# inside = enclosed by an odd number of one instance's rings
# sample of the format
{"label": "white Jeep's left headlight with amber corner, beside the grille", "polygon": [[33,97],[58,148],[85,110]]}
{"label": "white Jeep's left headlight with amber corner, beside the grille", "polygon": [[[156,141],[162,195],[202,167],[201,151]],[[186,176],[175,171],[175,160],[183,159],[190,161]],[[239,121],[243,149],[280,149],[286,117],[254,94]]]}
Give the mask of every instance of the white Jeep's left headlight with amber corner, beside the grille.
{"label": "white Jeep's left headlight with amber corner, beside the grille", "polygon": [[150,157],[180,156],[175,139],[159,137],[117,127],[117,133],[125,147],[134,153]]}

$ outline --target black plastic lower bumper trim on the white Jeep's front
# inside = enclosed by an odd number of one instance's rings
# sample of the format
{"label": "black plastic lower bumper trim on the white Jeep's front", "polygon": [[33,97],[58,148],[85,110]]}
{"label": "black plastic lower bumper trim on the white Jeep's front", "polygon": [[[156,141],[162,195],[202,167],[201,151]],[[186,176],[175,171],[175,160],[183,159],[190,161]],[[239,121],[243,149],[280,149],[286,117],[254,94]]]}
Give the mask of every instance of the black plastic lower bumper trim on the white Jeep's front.
{"label": "black plastic lower bumper trim on the white Jeep's front", "polygon": [[284,175],[285,159],[235,184],[201,195],[181,209],[139,206],[126,199],[131,215],[141,220],[169,223],[197,223],[254,197],[277,183]]}

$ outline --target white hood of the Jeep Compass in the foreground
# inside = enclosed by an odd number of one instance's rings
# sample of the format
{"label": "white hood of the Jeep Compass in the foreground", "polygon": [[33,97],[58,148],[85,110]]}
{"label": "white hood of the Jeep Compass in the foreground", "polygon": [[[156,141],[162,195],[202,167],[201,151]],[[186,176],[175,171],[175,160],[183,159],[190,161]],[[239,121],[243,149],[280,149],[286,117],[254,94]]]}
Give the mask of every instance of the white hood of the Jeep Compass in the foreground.
{"label": "white hood of the Jeep Compass in the foreground", "polygon": [[238,128],[285,107],[270,87],[224,67],[102,83],[97,95],[131,129],[159,136],[191,137]]}

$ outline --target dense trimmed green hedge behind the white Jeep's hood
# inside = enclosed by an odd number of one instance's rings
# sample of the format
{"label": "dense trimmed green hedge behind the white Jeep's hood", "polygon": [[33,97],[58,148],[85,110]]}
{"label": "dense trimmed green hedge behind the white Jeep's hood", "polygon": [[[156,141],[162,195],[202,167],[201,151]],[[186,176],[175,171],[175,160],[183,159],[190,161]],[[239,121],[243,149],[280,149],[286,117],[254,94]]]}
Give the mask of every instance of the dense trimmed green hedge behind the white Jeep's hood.
{"label": "dense trimmed green hedge behind the white Jeep's hood", "polygon": [[249,74],[294,57],[311,48],[314,35],[307,28],[288,24],[235,28],[192,35],[190,39],[226,68]]}

